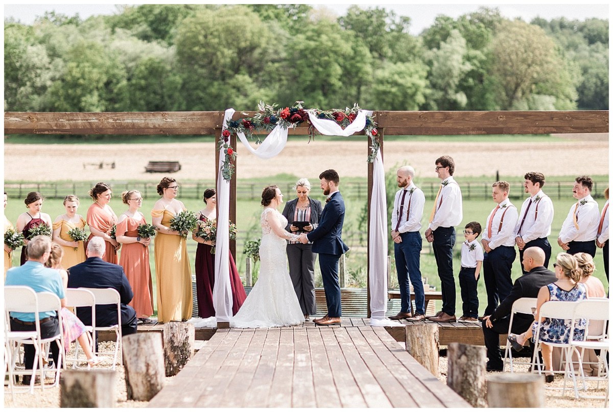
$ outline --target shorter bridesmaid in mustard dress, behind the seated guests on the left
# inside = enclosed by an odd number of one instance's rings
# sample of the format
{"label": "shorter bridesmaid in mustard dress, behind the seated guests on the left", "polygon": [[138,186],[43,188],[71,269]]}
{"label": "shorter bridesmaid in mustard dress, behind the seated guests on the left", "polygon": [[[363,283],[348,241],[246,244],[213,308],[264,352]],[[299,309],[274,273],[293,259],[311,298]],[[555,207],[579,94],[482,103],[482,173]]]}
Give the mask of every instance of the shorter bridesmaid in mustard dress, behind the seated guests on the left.
{"label": "shorter bridesmaid in mustard dress, behind the seated guests on the left", "polygon": [[85,262],[85,245],[83,241],[75,242],[68,234],[72,229],[85,229],[85,219],[83,216],[77,215],[79,200],[74,194],[69,194],[64,197],[64,208],[66,213],[59,215],[53,222],[53,242],[62,246],[64,254],[62,257],[62,266],[68,269],[74,265]]}

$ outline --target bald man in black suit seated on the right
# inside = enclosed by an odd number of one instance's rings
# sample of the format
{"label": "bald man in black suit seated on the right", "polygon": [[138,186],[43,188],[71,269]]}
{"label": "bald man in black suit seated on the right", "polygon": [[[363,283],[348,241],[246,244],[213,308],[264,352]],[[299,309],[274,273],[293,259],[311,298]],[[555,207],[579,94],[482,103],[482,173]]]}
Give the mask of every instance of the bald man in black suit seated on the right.
{"label": "bald man in black suit seated on the right", "polygon": [[[555,273],[544,267],[545,252],[543,249],[533,246],[524,250],[522,265],[528,272],[517,278],[513,288],[501,303],[493,311],[492,315],[484,316],[482,322],[483,338],[487,348],[487,370],[502,372],[503,362],[500,356],[500,335],[504,335],[509,330],[509,320],[513,303],[521,297],[537,297],[538,291],[549,283],[554,283],[557,278]],[[522,334],[528,330],[534,322],[532,315],[516,313],[513,318],[511,332]]]}

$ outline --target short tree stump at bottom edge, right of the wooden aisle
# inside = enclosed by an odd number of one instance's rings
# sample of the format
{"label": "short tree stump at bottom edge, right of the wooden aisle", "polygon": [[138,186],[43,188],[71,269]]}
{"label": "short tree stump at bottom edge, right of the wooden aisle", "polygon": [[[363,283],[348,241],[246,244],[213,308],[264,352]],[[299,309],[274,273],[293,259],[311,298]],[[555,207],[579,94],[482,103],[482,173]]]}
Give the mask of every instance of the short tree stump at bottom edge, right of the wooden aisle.
{"label": "short tree stump at bottom edge, right of the wooden aisle", "polygon": [[543,408],[545,384],[535,373],[496,373],[487,378],[489,408]]}

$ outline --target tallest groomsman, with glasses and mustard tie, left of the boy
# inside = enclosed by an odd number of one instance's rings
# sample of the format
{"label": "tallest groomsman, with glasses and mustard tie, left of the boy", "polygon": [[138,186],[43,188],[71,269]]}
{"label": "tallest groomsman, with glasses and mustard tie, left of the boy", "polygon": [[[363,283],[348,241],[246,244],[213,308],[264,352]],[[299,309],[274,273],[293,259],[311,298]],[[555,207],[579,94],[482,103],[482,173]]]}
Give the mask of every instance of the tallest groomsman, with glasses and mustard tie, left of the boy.
{"label": "tallest groomsman, with glasses and mustard tie, left of the boy", "polygon": [[453,252],[455,226],[462,223],[462,191],[454,180],[455,162],[451,156],[436,159],[436,174],[441,179],[436,199],[430,213],[430,224],[425,238],[432,242],[438,277],[441,279],[443,308],[435,316],[427,318],[435,322],[455,321],[455,280]]}

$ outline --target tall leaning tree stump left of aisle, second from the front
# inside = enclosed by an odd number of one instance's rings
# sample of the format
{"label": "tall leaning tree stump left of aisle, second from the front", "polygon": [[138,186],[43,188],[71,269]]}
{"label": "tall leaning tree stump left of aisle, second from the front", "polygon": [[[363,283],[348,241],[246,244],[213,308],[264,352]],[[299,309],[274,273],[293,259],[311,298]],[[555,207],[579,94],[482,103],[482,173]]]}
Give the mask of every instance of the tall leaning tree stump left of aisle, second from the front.
{"label": "tall leaning tree stump left of aisle, second from the front", "polygon": [[151,400],[164,387],[162,335],[145,332],[123,338],[128,399]]}

